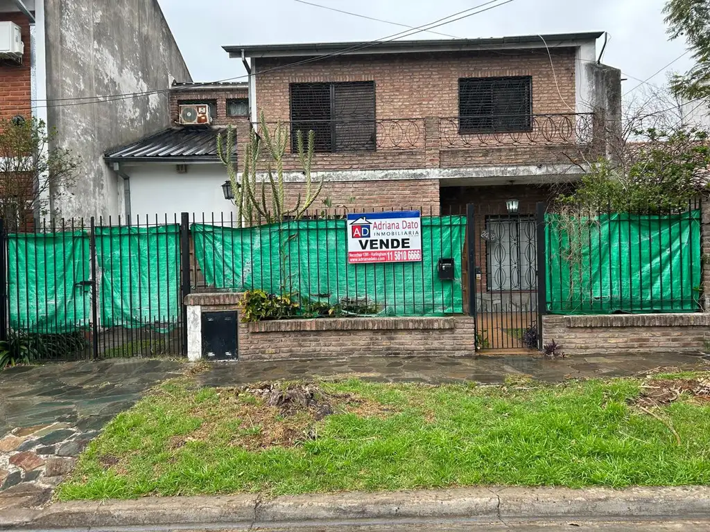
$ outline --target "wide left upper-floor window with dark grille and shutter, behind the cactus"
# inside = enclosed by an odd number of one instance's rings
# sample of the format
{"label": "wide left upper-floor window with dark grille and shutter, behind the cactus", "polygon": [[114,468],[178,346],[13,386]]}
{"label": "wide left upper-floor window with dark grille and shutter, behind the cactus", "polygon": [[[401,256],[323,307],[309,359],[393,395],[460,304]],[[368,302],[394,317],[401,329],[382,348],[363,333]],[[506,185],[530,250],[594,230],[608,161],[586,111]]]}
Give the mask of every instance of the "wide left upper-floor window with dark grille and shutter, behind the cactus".
{"label": "wide left upper-floor window with dark grille and shutter, behind the cactus", "polygon": [[[368,108],[364,111],[366,116],[364,118],[359,118],[358,116],[345,116],[343,119],[337,118],[339,114],[344,114],[343,108],[346,107],[348,102],[347,99],[341,99],[344,96],[343,93],[348,88],[357,89],[357,87],[370,89],[369,91],[365,90],[365,94],[361,94],[364,99],[371,98],[371,102],[365,102],[368,105]],[[299,91],[304,94],[295,94]],[[309,91],[312,91],[312,94],[307,94]],[[319,91],[321,94],[317,94]],[[317,109],[317,105],[313,105],[312,109],[307,109],[305,106],[299,109],[299,106],[295,104],[295,98],[305,99],[317,96],[322,98],[320,109]],[[352,103],[352,101],[349,103]],[[370,104],[371,108],[369,108]],[[357,105],[358,102],[356,102]],[[289,106],[292,153],[297,152],[295,131],[305,132],[311,129],[316,133],[316,153],[363,152],[377,149],[376,84],[373,80],[364,82],[291,83],[289,84]],[[310,116],[309,111],[311,111]],[[300,124],[303,125],[303,128],[298,127]],[[306,139],[304,138],[304,143],[305,141]]]}

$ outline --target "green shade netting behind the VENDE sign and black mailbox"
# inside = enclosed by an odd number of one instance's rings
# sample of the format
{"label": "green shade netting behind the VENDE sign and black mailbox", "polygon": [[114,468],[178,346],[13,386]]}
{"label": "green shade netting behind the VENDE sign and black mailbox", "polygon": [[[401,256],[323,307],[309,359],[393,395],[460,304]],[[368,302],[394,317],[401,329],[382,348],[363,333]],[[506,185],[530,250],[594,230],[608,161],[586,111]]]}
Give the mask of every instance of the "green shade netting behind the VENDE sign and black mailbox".
{"label": "green shade netting behind the VENDE sign and black mailbox", "polygon": [[[345,220],[293,221],[251,228],[194,224],[204,281],[219,289],[297,293],[311,300],[368,301],[378,314],[433,316],[463,311],[461,253],[465,216],[422,218],[421,262],[351,265]],[[454,279],[439,280],[439,258]]]}

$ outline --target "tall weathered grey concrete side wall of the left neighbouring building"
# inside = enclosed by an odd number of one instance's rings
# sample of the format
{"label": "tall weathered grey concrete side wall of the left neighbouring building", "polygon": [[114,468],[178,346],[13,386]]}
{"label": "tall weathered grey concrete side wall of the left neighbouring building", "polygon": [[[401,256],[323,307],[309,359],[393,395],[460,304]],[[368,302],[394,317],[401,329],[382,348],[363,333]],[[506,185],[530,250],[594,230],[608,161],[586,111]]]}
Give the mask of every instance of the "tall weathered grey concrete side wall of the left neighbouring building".
{"label": "tall weathered grey concrete side wall of the left neighbouring building", "polygon": [[[167,89],[173,78],[192,81],[190,72],[158,0],[45,0],[45,28],[48,120],[57,145],[82,157],[72,195],[53,190],[52,208],[62,216],[122,214],[118,180],[102,156],[167,127]],[[165,92],[85,99],[154,90]]]}

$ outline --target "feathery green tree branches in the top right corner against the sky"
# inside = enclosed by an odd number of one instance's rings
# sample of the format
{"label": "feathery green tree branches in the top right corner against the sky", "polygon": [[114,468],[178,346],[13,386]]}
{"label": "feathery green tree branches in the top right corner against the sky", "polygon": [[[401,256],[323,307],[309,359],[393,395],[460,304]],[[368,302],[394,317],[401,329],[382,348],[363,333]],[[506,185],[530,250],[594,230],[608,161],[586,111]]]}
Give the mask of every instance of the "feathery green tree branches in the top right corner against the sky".
{"label": "feathery green tree branches in the top right corner against the sky", "polygon": [[674,94],[695,100],[710,96],[710,1],[668,0],[663,9],[671,39],[684,37],[695,65],[672,77]]}

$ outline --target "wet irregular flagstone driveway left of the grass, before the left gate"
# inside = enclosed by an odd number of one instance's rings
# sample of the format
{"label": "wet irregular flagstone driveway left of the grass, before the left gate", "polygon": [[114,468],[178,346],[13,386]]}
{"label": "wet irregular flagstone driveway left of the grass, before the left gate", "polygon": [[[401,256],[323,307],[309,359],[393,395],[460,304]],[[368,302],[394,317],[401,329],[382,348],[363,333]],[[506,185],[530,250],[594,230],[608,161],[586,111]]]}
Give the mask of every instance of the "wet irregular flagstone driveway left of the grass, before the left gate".
{"label": "wet irregular flagstone driveway left of the grass, before the left gate", "polygon": [[47,501],[104,424],[183,367],[124,359],[0,372],[0,511]]}

